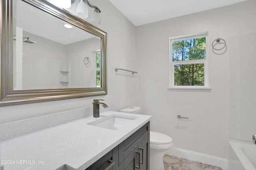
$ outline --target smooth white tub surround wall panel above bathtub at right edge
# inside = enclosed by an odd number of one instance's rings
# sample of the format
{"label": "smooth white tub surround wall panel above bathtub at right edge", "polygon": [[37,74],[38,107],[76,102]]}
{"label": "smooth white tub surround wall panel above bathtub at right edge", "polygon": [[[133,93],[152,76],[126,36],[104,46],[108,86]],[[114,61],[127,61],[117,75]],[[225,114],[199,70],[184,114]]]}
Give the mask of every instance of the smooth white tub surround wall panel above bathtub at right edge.
{"label": "smooth white tub surround wall panel above bathtub at right edge", "polygon": [[256,32],[229,37],[230,138],[252,142],[256,134]]}

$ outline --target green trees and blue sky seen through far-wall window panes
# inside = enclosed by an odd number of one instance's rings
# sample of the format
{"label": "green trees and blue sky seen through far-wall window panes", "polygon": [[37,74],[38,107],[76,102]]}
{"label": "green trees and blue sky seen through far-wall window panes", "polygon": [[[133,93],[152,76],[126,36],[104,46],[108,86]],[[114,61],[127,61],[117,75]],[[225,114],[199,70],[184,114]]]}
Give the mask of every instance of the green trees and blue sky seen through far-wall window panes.
{"label": "green trees and blue sky seen through far-wall window panes", "polygon": [[204,86],[204,63],[183,64],[182,61],[205,59],[206,37],[172,41],[174,86]]}

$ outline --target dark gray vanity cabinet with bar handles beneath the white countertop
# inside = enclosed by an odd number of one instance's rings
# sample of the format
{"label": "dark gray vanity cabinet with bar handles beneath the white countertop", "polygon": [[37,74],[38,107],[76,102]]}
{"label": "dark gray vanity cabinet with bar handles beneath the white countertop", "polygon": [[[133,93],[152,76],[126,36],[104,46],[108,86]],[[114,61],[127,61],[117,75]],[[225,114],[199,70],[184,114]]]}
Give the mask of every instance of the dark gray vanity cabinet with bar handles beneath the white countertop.
{"label": "dark gray vanity cabinet with bar handles beneath the white countertop", "polygon": [[149,170],[149,140],[148,122],[86,170]]}

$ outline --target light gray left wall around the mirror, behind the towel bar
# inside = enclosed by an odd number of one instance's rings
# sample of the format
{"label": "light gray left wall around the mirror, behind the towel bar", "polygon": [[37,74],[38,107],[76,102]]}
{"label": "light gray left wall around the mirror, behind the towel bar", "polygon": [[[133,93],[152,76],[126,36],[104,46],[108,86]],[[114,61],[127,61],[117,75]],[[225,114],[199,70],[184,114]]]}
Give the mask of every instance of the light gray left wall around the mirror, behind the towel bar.
{"label": "light gray left wall around the mirror, behind the towel bar", "polygon": [[[108,95],[0,107],[0,123],[92,106],[92,100],[96,98],[106,100],[105,103],[113,111],[132,104],[136,91],[135,78],[129,73],[116,74],[114,68],[136,68],[135,26],[108,0],[94,0],[93,4],[102,11],[100,28],[108,33]],[[100,110],[103,111],[103,107]]]}

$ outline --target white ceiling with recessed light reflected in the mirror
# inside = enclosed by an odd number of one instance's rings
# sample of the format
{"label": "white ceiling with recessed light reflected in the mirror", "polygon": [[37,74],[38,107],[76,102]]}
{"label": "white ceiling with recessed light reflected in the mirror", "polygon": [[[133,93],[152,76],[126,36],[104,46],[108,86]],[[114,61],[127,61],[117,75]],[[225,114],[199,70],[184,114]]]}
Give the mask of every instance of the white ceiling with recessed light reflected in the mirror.
{"label": "white ceiling with recessed light reflected in the mirror", "polygon": [[[44,37],[46,39],[67,45],[95,37],[91,33],[78,27],[66,28],[65,21],[60,20],[38,8],[33,8],[30,4],[21,0],[16,1],[14,10],[14,20],[16,26],[28,33]],[[15,9],[15,8],[14,8]],[[26,36],[25,36],[26,37]],[[31,41],[36,41],[30,39]]]}

